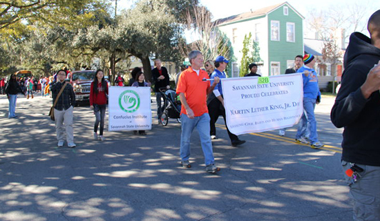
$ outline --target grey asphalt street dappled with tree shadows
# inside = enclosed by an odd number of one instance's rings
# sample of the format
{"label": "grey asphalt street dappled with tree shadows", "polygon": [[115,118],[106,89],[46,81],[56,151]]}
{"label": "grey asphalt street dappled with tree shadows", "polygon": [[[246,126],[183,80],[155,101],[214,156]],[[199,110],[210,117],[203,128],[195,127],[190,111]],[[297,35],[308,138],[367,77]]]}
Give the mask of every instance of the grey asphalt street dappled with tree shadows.
{"label": "grey asphalt street dappled with tree shadows", "polygon": [[[152,115],[155,101],[152,97]],[[108,132],[93,140],[95,117],[75,107],[76,148],[57,148],[51,99],[19,95],[8,119],[0,95],[0,220],[352,220],[341,171],[341,133],[330,122],[334,97],[316,119],[324,148],[296,144],[296,126],[240,135],[230,145],[222,117],[213,141],[221,171],[205,173],[198,132],[191,169],[180,166],[180,124],[153,120],[148,135]],[[106,123],[106,127],[108,124]]]}

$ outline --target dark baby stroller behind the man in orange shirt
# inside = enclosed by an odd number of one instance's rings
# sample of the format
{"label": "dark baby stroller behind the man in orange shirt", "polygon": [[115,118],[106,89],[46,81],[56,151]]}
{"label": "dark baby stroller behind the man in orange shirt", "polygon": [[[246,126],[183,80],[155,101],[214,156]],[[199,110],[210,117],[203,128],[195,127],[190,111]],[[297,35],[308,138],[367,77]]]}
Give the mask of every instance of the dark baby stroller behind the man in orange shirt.
{"label": "dark baby stroller behind the man in orange shirt", "polygon": [[164,97],[164,107],[162,108],[162,115],[160,122],[162,126],[167,126],[169,118],[177,119],[178,123],[181,123],[181,102],[177,98],[175,90],[169,88],[159,88],[160,93]]}

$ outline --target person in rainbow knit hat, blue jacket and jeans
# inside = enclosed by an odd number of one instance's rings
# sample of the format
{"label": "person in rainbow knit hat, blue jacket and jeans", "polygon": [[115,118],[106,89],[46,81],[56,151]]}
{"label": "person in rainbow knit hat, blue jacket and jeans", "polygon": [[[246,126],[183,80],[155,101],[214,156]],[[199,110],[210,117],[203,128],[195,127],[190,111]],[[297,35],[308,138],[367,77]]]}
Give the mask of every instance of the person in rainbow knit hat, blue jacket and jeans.
{"label": "person in rainbow knit hat, blue jacket and jeans", "polygon": [[303,115],[298,123],[296,142],[308,144],[305,139],[307,130],[310,132],[309,140],[312,148],[321,148],[324,145],[318,140],[316,133],[316,119],[314,115],[315,104],[321,101],[321,92],[318,86],[318,77],[313,69],[316,60],[314,55],[306,54],[303,56],[304,65],[297,70],[297,73],[303,73]]}

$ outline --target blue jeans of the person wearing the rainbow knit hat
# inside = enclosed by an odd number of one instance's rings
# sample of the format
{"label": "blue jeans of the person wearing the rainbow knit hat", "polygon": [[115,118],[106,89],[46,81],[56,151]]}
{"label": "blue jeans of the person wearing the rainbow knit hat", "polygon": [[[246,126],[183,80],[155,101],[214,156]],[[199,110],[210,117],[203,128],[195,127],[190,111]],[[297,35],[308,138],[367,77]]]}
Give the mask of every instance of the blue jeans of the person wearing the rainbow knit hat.
{"label": "blue jeans of the person wearing the rainbow knit hat", "polygon": [[298,123],[298,130],[296,139],[307,137],[309,133],[309,140],[312,144],[318,142],[318,135],[316,133],[316,119],[314,115],[316,99],[303,98],[303,115]]}

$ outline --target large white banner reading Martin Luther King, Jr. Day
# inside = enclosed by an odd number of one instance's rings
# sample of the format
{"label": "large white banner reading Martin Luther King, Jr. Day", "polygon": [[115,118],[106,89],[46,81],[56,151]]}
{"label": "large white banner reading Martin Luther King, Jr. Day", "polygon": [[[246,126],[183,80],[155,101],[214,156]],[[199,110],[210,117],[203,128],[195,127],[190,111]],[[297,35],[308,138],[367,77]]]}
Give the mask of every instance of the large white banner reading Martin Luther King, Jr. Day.
{"label": "large white banner reading Martin Luther King, Jr. Day", "polygon": [[[258,133],[293,126],[303,114],[301,74],[222,80],[231,133]],[[265,83],[266,81],[266,83]]]}

